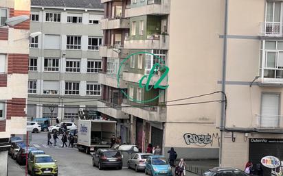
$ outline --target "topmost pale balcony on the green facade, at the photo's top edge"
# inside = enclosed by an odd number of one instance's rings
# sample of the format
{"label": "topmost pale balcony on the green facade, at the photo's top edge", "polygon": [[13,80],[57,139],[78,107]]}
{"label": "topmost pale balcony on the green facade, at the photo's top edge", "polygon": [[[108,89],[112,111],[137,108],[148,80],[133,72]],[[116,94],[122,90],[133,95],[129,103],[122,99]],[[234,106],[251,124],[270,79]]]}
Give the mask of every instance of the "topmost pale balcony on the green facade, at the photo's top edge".
{"label": "topmost pale balcony on the green facade, at the photo's top edge", "polygon": [[137,7],[126,9],[125,16],[142,16],[147,14],[155,15],[166,15],[170,14],[170,0],[148,0],[148,4]]}

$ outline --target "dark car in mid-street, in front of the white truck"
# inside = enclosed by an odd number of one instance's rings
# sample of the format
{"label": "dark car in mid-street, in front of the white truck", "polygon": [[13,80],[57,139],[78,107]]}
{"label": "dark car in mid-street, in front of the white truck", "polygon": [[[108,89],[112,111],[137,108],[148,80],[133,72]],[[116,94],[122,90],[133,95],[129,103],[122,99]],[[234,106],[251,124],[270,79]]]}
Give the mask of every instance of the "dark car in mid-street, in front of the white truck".
{"label": "dark car in mid-street, in front of the white truck", "polygon": [[122,155],[116,149],[98,149],[92,154],[92,165],[102,168],[122,169]]}

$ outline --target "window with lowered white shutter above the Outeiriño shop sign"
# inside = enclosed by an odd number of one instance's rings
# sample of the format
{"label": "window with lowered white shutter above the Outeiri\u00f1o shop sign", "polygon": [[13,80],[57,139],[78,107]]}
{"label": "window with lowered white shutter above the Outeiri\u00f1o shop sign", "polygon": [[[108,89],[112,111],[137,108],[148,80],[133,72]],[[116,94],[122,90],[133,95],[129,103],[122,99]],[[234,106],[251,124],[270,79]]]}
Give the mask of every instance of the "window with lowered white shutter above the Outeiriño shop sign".
{"label": "window with lowered white shutter above the Outeiri\u00f1o shop sign", "polygon": [[260,127],[278,127],[280,95],[263,93],[261,103]]}

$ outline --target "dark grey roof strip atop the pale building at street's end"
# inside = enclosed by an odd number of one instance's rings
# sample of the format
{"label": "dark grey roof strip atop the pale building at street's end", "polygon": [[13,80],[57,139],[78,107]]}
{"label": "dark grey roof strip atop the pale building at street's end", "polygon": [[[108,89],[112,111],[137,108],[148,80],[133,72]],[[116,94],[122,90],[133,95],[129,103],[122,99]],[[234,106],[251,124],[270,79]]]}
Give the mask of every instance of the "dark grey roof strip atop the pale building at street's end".
{"label": "dark grey roof strip atop the pale building at street's end", "polygon": [[64,8],[101,8],[100,0],[32,0],[32,6],[64,7]]}

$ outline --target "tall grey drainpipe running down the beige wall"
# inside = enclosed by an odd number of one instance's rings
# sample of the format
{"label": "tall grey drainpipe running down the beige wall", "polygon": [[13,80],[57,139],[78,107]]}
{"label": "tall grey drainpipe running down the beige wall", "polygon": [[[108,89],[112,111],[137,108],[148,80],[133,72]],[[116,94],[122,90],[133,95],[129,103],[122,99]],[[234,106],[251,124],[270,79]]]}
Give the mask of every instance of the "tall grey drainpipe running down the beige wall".
{"label": "tall grey drainpipe running down the beige wall", "polygon": [[222,103],[221,103],[221,120],[220,120],[220,151],[219,151],[219,166],[222,166],[222,153],[223,153],[223,135],[225,132],[225,84],[226,84],[226,60],[227,60],[227,28],[228,28],[228,3],[229,0],[225,0],[225,21],[224,21],[224,36],[223,36],[223,72],[222,72]]}

